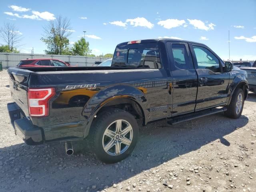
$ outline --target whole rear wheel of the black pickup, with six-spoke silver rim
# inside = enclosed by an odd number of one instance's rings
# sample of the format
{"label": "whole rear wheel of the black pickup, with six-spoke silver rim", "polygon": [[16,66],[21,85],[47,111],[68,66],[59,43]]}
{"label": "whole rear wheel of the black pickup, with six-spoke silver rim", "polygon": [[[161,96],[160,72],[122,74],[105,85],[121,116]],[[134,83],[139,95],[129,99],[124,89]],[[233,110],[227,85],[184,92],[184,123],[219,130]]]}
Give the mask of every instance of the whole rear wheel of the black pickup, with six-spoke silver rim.
{"label": "whole rear wheel of the black pickup, with six-spoke silver rim", "polygon": [[105,163],[123,160],[134,150],[138,140],[138,124],[132,114],[120,109],[100,113],[89,133],[92,152]]}

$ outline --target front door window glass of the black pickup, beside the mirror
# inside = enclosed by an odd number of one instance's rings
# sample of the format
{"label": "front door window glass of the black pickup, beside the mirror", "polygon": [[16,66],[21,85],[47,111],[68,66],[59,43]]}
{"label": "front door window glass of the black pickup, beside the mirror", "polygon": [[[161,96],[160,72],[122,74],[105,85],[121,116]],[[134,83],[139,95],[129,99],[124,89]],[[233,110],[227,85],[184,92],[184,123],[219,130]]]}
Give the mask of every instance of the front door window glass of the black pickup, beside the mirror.
{"label": "front door window glass of the black pickup, beside the mirror", "polygon": [[193,46],[196,54],[196,60],[199,69],[209,69],[213,72],[221,72],[218,58],[208,49],[199,46]]}

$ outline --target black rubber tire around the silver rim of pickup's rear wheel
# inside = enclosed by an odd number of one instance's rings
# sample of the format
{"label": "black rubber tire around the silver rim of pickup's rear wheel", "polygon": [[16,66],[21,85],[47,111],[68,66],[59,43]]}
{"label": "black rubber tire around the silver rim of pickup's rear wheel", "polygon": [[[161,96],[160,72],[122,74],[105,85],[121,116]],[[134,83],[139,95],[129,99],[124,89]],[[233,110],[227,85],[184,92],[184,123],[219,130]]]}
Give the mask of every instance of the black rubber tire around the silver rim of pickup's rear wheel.
{"label": "black rubber tire around the silver rim of pickup's rear wheel", "polygon": [[[108,126],[113,124],[113,122],[115,122],[116,120],[125,120],[126,122],[128,122],[132,126],[133,136],[131,139],[130,146],[128,146],[128,148],[123,153],[117,156],[112,156],[108,154],[103,148],[103,142],[104,142],[104,139],[106,138],[106,136],[104,136],[104,132],[106,131]],[[122,123],[121,123],[121,126],[123,126]],[[131,134],[131,132],[129,132],[128,134]],[[101,112],[96,117],[96,119],[94,120],[90,128],[88,142],[90,145],[90,150],[97,156],[98,159],[100,159],[104,163],[116,163],[125,159],[131,154],[131,152],[134,150],[136,146],[138,135],[139,135],[138,123],[134,118],[134,116],[132,116],[132,114],[124,110],[112,108],[112,109],[108,109]],[[116,139],[115,136],[113,138]],[[113,140],[114,139],[110,138],[110,141],[113,141]],[[116,142],[118,142],[118,140]],[[122,146],[125,146],[125,145],[120,144],[120,149],[122,148]],[[113,146],[113,149],[114,148],[116,148],[116,145]],[[110,148],[110,150],[113,150],[113,149]]]}

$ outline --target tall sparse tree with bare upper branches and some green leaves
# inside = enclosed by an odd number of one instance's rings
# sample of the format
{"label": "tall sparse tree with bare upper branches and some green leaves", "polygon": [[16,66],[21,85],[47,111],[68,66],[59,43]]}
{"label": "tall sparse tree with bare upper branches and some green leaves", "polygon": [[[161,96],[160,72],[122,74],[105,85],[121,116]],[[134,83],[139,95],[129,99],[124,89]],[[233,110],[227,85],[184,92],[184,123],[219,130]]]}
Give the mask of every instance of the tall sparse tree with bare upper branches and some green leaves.
{"label": "tall sparse tree with bare upper branches and some green leaves", "polygon": [[68,37],[72,34],[70,19],[59,15],[43,28],[44,37],[41,40],[47,44],[46,54],[62,54],[69,44]]}

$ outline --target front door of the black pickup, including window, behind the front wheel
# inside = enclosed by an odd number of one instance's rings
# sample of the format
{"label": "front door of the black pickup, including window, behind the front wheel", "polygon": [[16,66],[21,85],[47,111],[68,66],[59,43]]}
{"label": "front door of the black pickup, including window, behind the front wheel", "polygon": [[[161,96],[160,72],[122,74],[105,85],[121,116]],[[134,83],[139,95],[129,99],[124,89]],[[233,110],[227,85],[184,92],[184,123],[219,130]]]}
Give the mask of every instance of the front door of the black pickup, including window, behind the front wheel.
{"label": "front door of the black pickup, including window, behind the front wheel", "polygon": [[190,44],[198,74],[196,111],[224,105],[228,94],[229,74],[220,58],[207,46]]}

